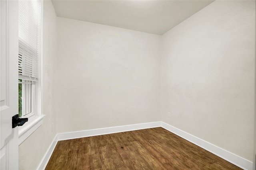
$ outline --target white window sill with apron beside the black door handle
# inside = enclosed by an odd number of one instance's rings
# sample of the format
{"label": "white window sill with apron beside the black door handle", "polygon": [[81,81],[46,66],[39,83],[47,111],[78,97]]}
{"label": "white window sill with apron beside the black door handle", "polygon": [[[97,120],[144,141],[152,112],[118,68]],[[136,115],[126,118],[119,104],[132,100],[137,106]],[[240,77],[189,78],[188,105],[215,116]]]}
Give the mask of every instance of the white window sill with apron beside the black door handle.
{"label": "white window sill with apron beside the black door handle", "polygon": [[43,117],[45,115],[40,115],[33,117],[32,119],[28,119],[23,126],[19,126],[19,145],[25,141],[38,127],[40,127],[43,123]]}

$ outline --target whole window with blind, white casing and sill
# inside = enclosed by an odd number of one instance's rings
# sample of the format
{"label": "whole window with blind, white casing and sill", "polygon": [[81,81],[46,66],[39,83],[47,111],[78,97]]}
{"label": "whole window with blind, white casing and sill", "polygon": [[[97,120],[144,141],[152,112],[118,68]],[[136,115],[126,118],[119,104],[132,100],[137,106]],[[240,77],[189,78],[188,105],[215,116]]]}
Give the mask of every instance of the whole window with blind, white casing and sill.
{"label": "whole window with blind, white casing and sill", "polygon": [[43,123],[42,114],[42,0],[19,0],[18,88],[19,116],[28,122],[18,127],[19,145]]}

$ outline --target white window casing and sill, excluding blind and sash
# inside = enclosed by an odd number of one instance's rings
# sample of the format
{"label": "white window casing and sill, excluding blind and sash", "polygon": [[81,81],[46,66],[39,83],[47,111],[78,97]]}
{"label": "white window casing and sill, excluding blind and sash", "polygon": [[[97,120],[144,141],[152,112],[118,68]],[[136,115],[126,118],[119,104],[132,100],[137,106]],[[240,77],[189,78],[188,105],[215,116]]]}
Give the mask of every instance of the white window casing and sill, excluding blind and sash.
{"label": "white window casing and sill, excluding blind and sash", "polygon": [[[26,122],[23,126],[18,127],[18,143],[19,145],[25,141],[38,127],[40,127],[43,123],[43,17],[44,14],[44,2],[41,0],[41,25],[40,25],[40,51],[39,51],[39,75],[38,82],[35,82],[34,88],[35,90],[35,98],[34,104],[32,105],[33,114],[25,115],[24,117],[28,117],[28,122]],[[18,81],[18,80],[17,80]]]}

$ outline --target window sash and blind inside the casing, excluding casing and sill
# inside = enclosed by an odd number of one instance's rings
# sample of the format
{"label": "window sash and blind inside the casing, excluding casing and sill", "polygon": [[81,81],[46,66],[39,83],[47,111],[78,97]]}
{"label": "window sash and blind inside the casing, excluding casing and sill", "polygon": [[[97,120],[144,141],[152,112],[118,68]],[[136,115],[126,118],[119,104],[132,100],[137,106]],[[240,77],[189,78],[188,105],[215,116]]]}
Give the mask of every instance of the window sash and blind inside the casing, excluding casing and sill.
{"label": "window sash and blind inside the casing, excluding casing and sill", "polygon": [[40,0],[19,1],[18,106],[19,117],[38,111],[40,82]]}

